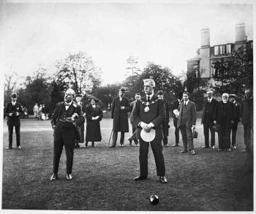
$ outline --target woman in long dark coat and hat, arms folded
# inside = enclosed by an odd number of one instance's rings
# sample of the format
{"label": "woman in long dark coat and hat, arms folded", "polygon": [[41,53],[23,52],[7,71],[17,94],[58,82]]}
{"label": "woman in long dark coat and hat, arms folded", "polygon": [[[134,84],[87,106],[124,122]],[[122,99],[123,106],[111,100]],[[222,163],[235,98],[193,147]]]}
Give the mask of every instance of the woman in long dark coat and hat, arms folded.
{"label": "woman in long dark coat and hat, arms folded", "polygon": [[99,121],[103,118],[102,109],[96,105],[96,99],[89,99],[91,104],[86,106],[86,148],[88,142],[91,142],[91,147],[96,147],[94,142],[102,140]]}

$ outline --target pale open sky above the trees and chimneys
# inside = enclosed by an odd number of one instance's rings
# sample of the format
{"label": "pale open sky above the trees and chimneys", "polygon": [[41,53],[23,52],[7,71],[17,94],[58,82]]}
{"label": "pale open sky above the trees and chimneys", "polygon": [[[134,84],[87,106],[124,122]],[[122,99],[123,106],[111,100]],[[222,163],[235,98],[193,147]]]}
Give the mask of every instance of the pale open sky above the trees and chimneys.
{"label": "pale open sky above the trees and chimneys", "polygon": [[[157,1],[156,1],[157,2]],[[4,69],[26,76],[69,53],[86,52],[102,70],[102,84],[124,80],[126,60],[138,57],[187,71],[187,59],[200,47],[200,30],[210,28],[212,45],[235,42],[235,26],[252,35],[252,4],[5,4],[1,9]],[[3,7],[3,5],[1,5]]]}

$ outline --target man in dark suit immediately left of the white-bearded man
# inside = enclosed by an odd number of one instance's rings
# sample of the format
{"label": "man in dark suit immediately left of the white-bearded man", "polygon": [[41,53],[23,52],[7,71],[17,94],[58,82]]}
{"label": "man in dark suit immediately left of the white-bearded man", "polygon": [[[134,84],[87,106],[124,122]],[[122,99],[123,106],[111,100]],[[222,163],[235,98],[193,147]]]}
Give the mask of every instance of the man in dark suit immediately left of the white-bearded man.
{"label": "man in dark suit immediately left of the white-bearded man", "polygon": [[207,91],[207,99],[203,100],[203,113],[201,124],[203,124],[203,134],[205,136],[205,146],[209,148],[209,130],[211,132],[211,148],[215,145],[215,131],[212,129],[214,126],[214,110],[217,105],[217,100],[213,98],[213,91]]}

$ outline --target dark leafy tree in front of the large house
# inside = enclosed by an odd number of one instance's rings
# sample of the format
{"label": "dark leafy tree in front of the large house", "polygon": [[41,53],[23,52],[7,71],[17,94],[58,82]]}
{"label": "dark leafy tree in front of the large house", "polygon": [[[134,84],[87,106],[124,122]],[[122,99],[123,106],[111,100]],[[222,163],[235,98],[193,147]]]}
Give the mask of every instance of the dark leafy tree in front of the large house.
{"label": "dark leafy tree in front of the large house", "polygon": [[221,58],[214,64],[217,75],[213,85],[216,93],[236,93],[241,96],[246,88],[253,85],[253,61],[252,52],[246,51],[245,47],[233,50],[228,58]]}

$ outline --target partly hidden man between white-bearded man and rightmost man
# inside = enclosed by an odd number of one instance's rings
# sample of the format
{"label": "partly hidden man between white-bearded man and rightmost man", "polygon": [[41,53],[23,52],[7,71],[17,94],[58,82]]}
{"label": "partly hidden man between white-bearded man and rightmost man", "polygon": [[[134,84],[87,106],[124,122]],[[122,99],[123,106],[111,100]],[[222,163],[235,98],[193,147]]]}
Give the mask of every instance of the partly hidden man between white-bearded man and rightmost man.
{"label": "partly hidden man between white-bearded man and rightmost man", "polygon": [[236,94],[230,94],[229,95],[230,102],[232,102],[235,105],[235,110],[236,110],[236,119],[235,123],[233,124],[231,128],[231,133],[232,133],[232,148],[236,149],[236,131],[237,131],[237,126],[238,123],[240,122],[240,113],[241,113],[241,104],[236,102]]}

